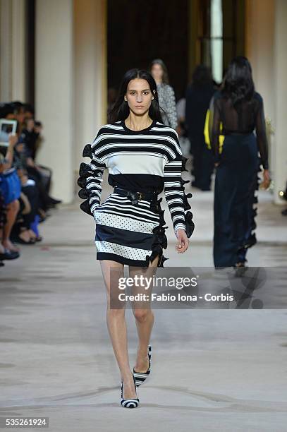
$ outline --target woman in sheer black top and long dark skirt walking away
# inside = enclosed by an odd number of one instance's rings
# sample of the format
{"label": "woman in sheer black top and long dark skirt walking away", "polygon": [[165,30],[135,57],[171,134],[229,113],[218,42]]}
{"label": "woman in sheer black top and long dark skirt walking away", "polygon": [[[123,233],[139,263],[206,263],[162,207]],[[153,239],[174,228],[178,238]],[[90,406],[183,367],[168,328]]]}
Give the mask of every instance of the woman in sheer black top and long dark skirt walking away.
{"label": "woman in sheer black top and long dark skirt walking away", "polygon": [[[253,205],[257,203],[260,165],[264,169],[263,186],[270,181],[263,100],[255,92],[248,59],[238,56],[231,61],[210,111],[216,166],[214,266],[242,267],[247,249],[256,243],[257,210]],[[225,137],[221,153],[219,134]]]}

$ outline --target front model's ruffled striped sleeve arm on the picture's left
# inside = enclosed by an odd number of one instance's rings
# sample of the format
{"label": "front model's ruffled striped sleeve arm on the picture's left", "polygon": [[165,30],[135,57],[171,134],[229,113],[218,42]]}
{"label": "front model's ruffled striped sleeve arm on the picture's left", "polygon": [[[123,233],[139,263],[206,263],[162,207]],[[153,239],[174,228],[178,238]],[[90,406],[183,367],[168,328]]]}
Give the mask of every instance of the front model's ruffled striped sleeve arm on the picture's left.
{"label": "front model's ruffled striped sleeve arm on the picture's left", "polygon": [[85,145],[83,150],[84,157],[90,157],[90,164],[84,162],[80,165],[80,178],[78,185],[83,189],[80,190],[80,198],[87,198],[85,203],[80,207],[83,211],[94,215],[94,210],[101,202],[102,181],[106,164],[102,160],[102,134],[97,134],[92,144]]}

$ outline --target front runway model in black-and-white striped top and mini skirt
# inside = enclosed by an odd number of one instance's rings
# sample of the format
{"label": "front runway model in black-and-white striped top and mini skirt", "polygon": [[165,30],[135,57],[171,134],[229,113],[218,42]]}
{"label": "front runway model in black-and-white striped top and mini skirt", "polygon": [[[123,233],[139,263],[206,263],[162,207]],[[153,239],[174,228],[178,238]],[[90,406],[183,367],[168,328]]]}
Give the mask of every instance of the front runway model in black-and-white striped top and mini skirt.
{"label": "front runway model in black-and-white striped top and mini skirt", "polygon": [[[95,244],[107,294],[107,325],[121,371],[121,405],[138,407],[136,387],[151,370],[152,345],[149,339],[154,324],[150,307],[133,305],[138,330],[138,356],[133,372],[128,360],[125,308],[111,307],[111,274],[123,276],[124,265],[130,277],[146,275],[164,267],[163,248],[167,247],[164,210],[157,195],[164,190],[178,253],[184,253],[194,229],[193,215],[185,195],[181,174],[185,157],[178,134],[162,123],[157,85],[147,71],[131,69],[123,77],[110,123],[102,126],[83,156],[90,164],[80,165],[78,184],[83,211],[94,216]],[[114,187],[100,203],[104,170]],[[147,294],[149,292],[147,291]]]}

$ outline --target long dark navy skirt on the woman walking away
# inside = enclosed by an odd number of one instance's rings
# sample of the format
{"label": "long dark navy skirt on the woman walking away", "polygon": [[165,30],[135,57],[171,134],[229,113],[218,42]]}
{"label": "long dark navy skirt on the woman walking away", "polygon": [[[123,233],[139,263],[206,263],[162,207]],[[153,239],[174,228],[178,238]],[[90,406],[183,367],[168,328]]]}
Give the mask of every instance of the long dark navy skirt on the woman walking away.
{"label": "long dark navy skirt on the woman walking away", "polygon": [[214,266],[232,267],[246,260],[256,242],[255,214],[259,158],[253,133],[224,138],[214,189]]}

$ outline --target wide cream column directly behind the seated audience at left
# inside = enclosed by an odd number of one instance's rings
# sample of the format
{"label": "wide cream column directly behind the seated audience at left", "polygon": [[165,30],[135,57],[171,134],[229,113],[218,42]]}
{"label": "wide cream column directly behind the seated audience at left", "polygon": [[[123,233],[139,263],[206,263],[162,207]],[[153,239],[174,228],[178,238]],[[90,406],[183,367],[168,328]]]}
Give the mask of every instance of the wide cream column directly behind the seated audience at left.
{"label": "wide cream column directly behind the seated audience at left", "polygon": [[51,195],[74,195],[73,0],[37,0],[35,110],[44,143],[37,162],[53,171]]}

